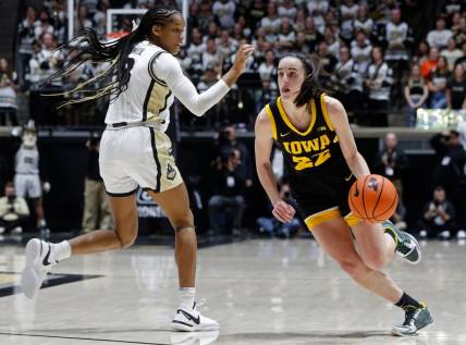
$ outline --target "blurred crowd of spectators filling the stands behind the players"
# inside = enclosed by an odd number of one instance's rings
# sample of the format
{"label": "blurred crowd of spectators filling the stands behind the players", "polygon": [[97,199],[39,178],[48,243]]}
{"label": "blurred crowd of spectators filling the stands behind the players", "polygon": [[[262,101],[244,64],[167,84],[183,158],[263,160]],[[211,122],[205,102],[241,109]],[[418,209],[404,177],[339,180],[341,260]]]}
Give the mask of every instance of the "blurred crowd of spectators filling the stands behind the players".
{"label": "blurred crowd of spectators filling the stands behind the players", "polygon": [[[176,2],[181,8],[181,1]],[[466,8],[446,0],[432,27],[416,22],[414,0],[193,0],[186,45],[179,59],[199,91],[229,69],[242,42],[255,46],[245,75],[210,116],[181,116],[183,128],[250,128],[265,103],[278,96],[277,63],[286,53],[317,58],[321,84],[339,98],[351,121],[363,126],[389,125],[389,113],[415,125],[418,108],[464,109]],[[76,1],[75,34],[91,27],[101,39],[132,28],[134,15],[118,15],[106,35],[109,8],[150,9],[154,0]],[[0,125],[17,123],[16,93],[28,95],[30,118],[37,124],[100,125],[107,101],[64,108],[60,98],[41,97],[71,89],[99,73],[93,63],[73,75],[44,85],[70,57],[54,50],[68,37],[66,1],[46,0],[27,7],[17,28],[14,63],[0,58]],[[433,22],[433,21],[432,21]],[[417,40],[413,28],[426,32]],[[417,35],[419,36],[419,35]],[[14,69],[13,69],[14,65]],[[69,97],[79,97],[71,95]],[[231,111],[234,109],[235,111]],[[182,106],[180,112],[184,112]]]}

